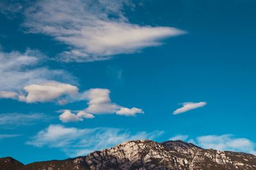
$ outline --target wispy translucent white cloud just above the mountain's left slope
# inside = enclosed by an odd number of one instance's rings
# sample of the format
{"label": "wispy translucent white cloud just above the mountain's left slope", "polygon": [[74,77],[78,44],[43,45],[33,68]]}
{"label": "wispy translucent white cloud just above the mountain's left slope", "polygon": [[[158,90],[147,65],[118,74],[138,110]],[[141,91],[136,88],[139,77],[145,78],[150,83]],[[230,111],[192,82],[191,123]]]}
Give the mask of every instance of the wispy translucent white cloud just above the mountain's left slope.
{"label": "wispy translucent white cloud just above the mountain's left slope", "polygon": [[38,132],[36,136],[28,141],[28,145],[37,147],[49,146],[60,148],[72,157],[86,155],[94,150],[102,150],[115,146],[131,139],[154,139],[163,134],[162,131],[153,132],[131,132],[122,129],[95,128],[77,129],[74,127],[64,127],[63,125],[50,125],[46,129]]}

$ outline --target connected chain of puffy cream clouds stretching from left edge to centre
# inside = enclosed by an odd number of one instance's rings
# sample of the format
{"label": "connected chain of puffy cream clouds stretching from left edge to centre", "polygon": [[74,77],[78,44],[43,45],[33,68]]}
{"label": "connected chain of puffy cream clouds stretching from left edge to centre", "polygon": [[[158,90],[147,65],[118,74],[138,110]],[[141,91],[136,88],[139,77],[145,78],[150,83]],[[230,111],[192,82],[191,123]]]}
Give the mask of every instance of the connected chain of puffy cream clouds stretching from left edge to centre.
{"label": "connected chain of puffy cream clouds stretching from left edge to centre", "polygon": [[27,85],[23,90],[16,92],[0,91],[1,98],[16,99],[26,103],[57,101],[58,104],[66,104],[70,101],[87,100],[88,107],[77,111],[77,114],[70,110],[64,110],[60,115],[62,122],[77,122],[83,118],[94,118],[94,114],[113,114],[134,116],[137,113],[144,113],[140,108],[125,108],[112,103],[108,89],[90,89],[79,93],[79,89],[67,83],[58,81],[45,81],[43,83]]}

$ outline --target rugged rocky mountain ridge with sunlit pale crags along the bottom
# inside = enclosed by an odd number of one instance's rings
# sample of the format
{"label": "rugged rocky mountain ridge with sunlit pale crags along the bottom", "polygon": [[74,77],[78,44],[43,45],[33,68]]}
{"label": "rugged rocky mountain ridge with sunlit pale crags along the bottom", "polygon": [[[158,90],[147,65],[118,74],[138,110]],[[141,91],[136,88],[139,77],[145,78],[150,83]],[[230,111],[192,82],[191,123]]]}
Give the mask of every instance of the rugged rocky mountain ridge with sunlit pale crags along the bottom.
{"label": "rugged rocky mountain ridge with sunlit pale crags along the bottom", "polygon": [[85,169],[256,169],[256,156],[248,153],[206,150],[192,143],[148,140],[127,141],[85,157],[24,164],[0,159],[0,170]]}

